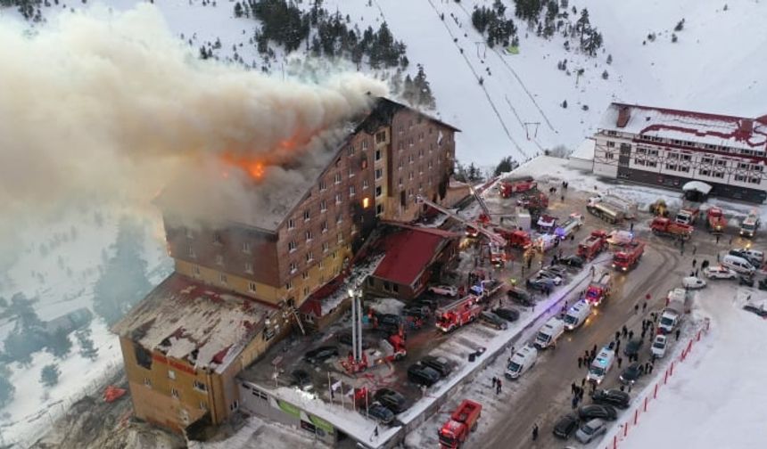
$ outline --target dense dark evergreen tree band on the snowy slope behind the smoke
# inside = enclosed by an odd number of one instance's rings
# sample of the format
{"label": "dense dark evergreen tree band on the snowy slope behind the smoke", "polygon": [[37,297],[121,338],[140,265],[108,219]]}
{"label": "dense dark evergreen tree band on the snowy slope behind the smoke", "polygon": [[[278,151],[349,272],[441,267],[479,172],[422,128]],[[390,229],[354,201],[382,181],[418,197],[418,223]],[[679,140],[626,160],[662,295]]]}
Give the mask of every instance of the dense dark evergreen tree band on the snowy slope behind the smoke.
{"label": "dense dark evergreen tree band on the snowy slope behind the smoke", "polygon": [[[273,54],[269,42],[284,46],[288,52],[306,43],[315,56],[351,59],[358,67],[366,57],[373,69],[408,66],[406,46],[392,36],[386,22],[377,30],[367,27],[360,31],[350,25],[348,14],[344,17],[340,12],[328,13],[321,0],[316,0],[308,12],[285,0],[247,0],[235,3],[235,16],[260,20],[261,29],[254,41],[261,54]],[[310,37],[312,30],[316,32]]]}

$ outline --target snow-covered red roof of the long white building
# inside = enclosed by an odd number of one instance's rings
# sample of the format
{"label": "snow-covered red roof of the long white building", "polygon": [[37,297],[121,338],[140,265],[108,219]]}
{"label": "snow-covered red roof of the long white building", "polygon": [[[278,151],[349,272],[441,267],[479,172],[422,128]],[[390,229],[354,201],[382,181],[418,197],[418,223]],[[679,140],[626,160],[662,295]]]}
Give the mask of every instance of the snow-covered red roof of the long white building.
{"label": "snow-covered red roof of the long white building", "polygon": [[[623,121],[622,127],[619,122]],[[741,150],[767,150],[767,123],[754,118],[612,103],[598,128]]]}

